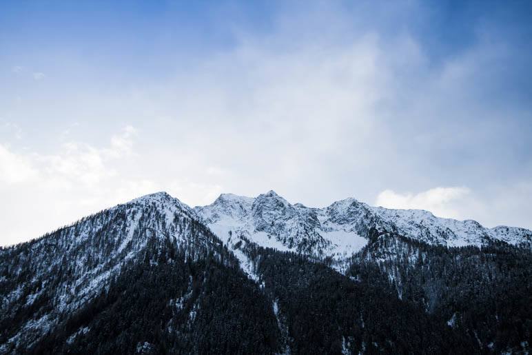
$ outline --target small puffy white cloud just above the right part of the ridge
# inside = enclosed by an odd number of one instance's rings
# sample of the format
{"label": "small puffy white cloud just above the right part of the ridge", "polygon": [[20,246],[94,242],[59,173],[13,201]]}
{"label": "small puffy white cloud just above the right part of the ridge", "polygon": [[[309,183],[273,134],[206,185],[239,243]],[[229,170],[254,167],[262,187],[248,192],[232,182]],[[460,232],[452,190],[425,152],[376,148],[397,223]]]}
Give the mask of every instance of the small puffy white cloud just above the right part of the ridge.
{"label": "small puffy white cloud just above the right part of the ridge", "polygon": [[416,194],[384,190],[375,204],[387,208],[427,210],[436,216],[463,219],[460,203],[464,203],[470,190],[467,187],[435,187]]}

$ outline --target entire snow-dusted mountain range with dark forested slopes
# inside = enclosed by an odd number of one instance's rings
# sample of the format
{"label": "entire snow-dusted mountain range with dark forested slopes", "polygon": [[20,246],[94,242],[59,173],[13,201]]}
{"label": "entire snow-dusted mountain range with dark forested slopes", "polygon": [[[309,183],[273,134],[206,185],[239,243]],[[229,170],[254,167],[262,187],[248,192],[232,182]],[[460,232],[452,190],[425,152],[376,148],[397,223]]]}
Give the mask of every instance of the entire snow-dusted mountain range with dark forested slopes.
{"label": "entire snow-dusted mountain range with dark forested slopes", "polygon": [[0,354],[529,352],[532,232],[165,193],[0,250]]}

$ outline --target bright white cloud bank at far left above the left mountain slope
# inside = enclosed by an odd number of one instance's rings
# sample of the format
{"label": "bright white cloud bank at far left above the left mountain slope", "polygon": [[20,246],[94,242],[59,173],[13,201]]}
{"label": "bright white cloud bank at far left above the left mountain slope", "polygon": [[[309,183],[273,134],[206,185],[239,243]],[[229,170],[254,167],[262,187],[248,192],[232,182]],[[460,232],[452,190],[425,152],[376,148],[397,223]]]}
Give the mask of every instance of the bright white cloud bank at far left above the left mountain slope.
{"label": "bright white cloud bank at far left above the left mountain slope", "polygon": [[[87,214],[159,190],[121,170],[136,130],[126,126],[104,148],[63,143],[54,154],[16,153],[0,144],[0,245],[26,241]],[[30,223],[31,221],[31,223]]]}

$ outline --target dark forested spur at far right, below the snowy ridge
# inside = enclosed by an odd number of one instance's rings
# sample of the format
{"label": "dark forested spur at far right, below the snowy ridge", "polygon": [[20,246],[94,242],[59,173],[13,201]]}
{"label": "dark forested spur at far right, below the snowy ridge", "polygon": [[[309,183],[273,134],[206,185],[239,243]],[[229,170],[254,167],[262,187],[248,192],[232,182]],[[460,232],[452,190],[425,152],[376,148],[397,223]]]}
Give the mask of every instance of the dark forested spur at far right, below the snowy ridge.
{"label": "dark forested spur at far right, below the snowy ridge", "polygon": [[349,276],[385,275],[403,301],[467,337],[482,352],[521,352],[532,334],[532,254],[504,242],[427,245],[394,234],[374,239]]}

